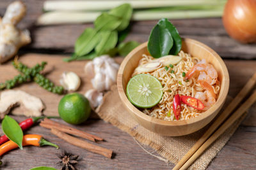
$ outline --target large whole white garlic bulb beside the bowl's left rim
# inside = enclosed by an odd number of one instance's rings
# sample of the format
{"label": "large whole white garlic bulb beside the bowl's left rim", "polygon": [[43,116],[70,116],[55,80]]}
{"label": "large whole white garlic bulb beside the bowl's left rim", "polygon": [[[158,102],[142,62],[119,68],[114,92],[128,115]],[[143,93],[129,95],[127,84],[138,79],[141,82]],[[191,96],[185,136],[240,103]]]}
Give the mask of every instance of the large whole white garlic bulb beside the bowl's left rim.
{"label": "large whole white garlic bulb beside the bowl's left rim", "polygon": [[84,71],[86,76],[93,77],[91,80],[93,88],[103,92],[116,83],[118,68],[119,64],[114,59],[109,55],[102,55],[88,62],[84,66]]}

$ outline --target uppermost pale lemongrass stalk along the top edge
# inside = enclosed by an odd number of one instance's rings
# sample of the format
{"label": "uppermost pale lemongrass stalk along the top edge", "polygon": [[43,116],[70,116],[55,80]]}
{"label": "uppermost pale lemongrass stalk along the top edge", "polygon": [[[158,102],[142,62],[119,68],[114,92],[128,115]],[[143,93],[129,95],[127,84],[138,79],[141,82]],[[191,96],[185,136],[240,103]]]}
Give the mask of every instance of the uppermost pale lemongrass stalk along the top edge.
{"label": "uppermost pale lemongrass stalk along the top edge", "polygon": [[45,1],[45,11],[93,11],[110,10],[124,3],[131,4],[136,8],[156,8],[165,6],[191,6],[191,5],[216,5],[225,3],[227,0],[159,0],[159,1]]}

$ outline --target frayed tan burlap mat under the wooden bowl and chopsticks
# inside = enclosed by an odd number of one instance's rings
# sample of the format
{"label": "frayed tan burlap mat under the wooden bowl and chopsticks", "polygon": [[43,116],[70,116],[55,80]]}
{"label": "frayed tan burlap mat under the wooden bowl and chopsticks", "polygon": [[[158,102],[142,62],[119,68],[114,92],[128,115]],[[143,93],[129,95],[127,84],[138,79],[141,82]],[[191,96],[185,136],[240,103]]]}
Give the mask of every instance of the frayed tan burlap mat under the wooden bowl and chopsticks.
{"label": "frayed tan burlap mat under the wooden bowl and chopsticks", "polygon": [[[227,99],[226,103],[229,103]],[[225,107],[225,106],[224,106]],[[148,131],[139,125],[125,110],[122,105],[116,85],[112,87],[104,96],[104,103],[97,108],[100,118],[110,122],[122,131],[127,132],[143,145],[148,145],[159,153],[162,157],[176,164],[195,144],[195,142],[204,134],[207,127],[193,134],[179,137],[160,136],[154,132]],[[245,114],[235,122],[223,135],[220,136],[205,152],[202,154],[189,169],[205,169],[211,160],[220,152],[221,148],[227,143],[228,139],[236,131],[243,120]]]}

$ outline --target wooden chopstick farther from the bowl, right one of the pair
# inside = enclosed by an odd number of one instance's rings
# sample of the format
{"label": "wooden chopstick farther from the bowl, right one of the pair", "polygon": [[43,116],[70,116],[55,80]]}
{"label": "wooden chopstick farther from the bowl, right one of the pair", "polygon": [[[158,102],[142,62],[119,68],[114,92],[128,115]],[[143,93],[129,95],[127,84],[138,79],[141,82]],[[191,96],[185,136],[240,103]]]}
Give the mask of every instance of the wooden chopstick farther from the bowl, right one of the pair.
{"label": "wooden chopstick farther from the bowl, right one of the pair", "polygon": [[221,127],[212,134],[212,136],[205,141],[205,143],[188,159],[188,161],[180,167],[180,169],[188,169],[193,162],[218,138],[230,127],[237,119],[239,119],[243,113],[252,106],[256,101],[256,90],[253,94],[235,111],[230,118]]}

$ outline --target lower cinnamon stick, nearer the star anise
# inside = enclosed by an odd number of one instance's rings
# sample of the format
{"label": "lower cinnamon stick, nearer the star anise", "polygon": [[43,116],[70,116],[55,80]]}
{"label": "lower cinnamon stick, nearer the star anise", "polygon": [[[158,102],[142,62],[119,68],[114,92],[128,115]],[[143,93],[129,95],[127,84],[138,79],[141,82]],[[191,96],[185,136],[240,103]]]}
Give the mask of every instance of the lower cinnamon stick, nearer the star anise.
{"label": "lower cinnamon stick, nearer the star anise", "polygon": [[93,153],[98,153],[100,155],[103,155],[104,157],[107,157],[107,158],[111,159],[111,156],[112,156],[112,153],[113,153],[112,150],[109,150],[107,148],[102,148],[102,147],[97,146],[97,145],[93,145],[93,144],[88,143],[86,141],[82,141],[81,139],[77,139],[73,136],[65,134],[64,132],[58,131],[58,129],[52,128],[51,132],[52,132],[52,134],[58,136],[59,138],[63,139],[64,141],[67,141],[68,143],[70,143],[72,145],[78,146],[80,148],[84,148],[84,149],[86,149],[90,152],[93,152]]}

